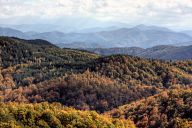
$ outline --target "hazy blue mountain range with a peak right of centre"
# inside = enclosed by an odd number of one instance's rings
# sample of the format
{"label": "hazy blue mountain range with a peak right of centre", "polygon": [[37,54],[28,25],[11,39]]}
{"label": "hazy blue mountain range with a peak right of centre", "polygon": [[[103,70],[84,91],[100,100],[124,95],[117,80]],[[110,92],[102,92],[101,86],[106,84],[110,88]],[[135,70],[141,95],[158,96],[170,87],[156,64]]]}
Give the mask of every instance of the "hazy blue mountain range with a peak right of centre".
{"label": "hazy blue mountain range with a peak right of centre", "polygon": [[[114,27],[115,28],[115,27]],[[44,39],[67,48],[112,48],[112,47],[142,47],[156,45],[183,46],[191,44],[192,37],[167,28],[138,25],[133,28],[98,28],[79,31],[79,33],[62,33],[58,31],[38,33],[34,31],[21,32],[10,28],[0,28],[1,36],[11,36],[23,39]],[[185,43],[183,43],[185,42]],[[189,42],[189,43],[188,43]]]}

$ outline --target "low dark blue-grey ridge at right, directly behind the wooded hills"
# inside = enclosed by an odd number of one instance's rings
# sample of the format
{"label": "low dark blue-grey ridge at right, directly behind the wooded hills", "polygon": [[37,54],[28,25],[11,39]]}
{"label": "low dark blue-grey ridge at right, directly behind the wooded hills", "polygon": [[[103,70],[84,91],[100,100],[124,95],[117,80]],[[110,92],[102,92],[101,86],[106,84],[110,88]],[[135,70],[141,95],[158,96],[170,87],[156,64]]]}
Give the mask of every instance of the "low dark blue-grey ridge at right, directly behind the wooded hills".
{"label": "low dark blue-grey ridge at right, directly behind the wooded hills", "polygon": [[86,49],[101,55],[125,54],[144,58],[162,59],[162,60],[185,60],[192,59],[192,45],[190,46],[171,46],[159,45],[152,48],[95,48]]}

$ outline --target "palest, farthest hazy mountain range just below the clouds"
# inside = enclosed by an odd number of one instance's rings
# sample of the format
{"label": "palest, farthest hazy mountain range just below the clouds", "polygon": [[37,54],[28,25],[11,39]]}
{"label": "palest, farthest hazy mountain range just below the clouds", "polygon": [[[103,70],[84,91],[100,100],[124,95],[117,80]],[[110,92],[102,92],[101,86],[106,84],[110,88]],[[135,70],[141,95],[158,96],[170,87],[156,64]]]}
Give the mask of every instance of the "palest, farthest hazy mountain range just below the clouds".
{"label": "palest, farthest hazy mountain range just below the clouds", "polygon": [[[0,21],[1,27],[8,27],[13,28],[22,32],[27,31],[37,31],[39,33],[43,32],[51,32],[51,31],[59,31],[63,33],[87,33],[87,32],[98,32],[101,30],[114,30],[116,28],[122,28],[122,27],[130,27],[130,25],[122,22],[114,22],[114,21],[100,21],[95,20],[92,18],[85,18],[85,17],[71,17],[71,16],[64,16],[62,18],[56,18],[50,20],[41,19],[38,18],[40,22],[34,23],[31,21],[34,21],[37,19],[37,17],[26,17],[26,20],[29,20],[23,24],[21,24],[22,19],[19,19],[18,17],[15,17],[14,21],[12,23]],[[10,21],[7,19],[7,21]]]}

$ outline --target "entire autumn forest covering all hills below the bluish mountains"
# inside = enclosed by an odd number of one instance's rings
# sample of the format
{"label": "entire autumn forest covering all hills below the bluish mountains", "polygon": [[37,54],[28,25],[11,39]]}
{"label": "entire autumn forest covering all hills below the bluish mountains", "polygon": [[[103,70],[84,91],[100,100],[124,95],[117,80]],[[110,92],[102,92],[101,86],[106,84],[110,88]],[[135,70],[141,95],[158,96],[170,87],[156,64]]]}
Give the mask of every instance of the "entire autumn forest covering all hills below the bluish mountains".
{"label": "entire autumn forest covering all hills below the bluish mountains", "polygon": [[[192,60],[162,61],[127,55],[102,57],[83,50],[61,49],[44,40],[8,37],[0,37],[0,57],[2,127],[44,124],[52,128],[50,122],[56,121],[57,127],[129,128],[134,127],[131,120],[143,128],[190,126]],[[167,97],[161,98],[162,95]],[[178,99],[182,100],[181,106],[177,104]],[[43,110],[50,111],[48,121],[42,117],[43,111],[36,110],[44,105]],[[153,109],[158,117],[152,116]],[[32,111],[33,119],[23,122],[20,117],[28,115],[15,114],[20,111],[23,114]],[[59,118],[63,111],[71,114],[71,122]],[[87,116],[91,123],[84,120]],[[106,122],[102,122],[103,118]],[[31,126],[27,126],[28,121]]]}

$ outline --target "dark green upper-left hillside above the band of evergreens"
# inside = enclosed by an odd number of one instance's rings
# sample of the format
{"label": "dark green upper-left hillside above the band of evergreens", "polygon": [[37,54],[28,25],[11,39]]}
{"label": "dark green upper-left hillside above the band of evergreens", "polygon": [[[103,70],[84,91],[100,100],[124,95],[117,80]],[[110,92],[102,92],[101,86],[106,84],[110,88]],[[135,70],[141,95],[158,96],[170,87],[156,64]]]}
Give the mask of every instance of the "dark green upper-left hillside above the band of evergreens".
{"label": "dark green upper-left hillside above the band of evergreens", "polygon": [[84,63],[97,58],[98,55],[72,49],[60,49],[43,40],[22,40],[0,37],[1,66],[8,67],[22,63],[59,62]]}

